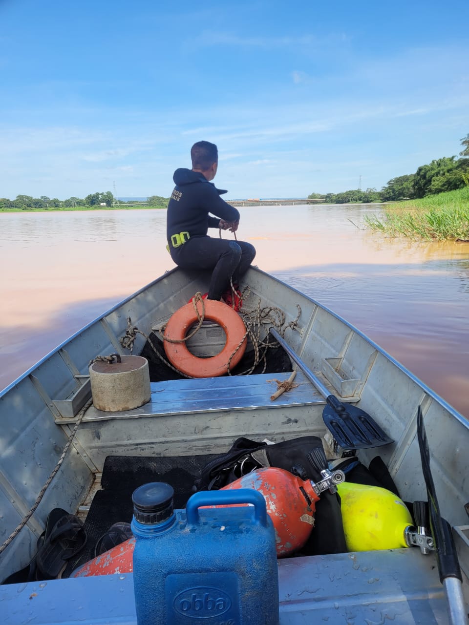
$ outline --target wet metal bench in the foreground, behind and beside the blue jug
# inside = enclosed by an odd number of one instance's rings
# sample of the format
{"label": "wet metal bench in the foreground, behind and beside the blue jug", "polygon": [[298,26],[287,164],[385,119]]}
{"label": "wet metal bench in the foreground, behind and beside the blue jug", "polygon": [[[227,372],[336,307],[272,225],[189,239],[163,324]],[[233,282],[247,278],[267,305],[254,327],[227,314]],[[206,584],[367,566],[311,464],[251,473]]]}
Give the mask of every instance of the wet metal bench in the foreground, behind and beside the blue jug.
{"label": "wet metal bench in the foreground, behind and beside the blue jug", "polygon": [[[279,561],[279,586],[281,625],[448,622],[435,561],[419,549]],[[0,600],[5,625],[137,622],[131,573],[1,586]]]}

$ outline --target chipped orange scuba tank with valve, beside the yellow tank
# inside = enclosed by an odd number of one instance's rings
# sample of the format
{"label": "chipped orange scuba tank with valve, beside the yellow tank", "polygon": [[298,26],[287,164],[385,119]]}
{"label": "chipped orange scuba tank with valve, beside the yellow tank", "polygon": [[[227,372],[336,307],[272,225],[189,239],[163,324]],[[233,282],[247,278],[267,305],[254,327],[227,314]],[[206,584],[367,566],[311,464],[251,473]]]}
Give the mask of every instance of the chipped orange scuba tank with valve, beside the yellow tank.
{"label": "chipped orange scuba tank with valve, beside the yellow tank", "polygon": [[275,529],[277,557],[288,556],[303,547],[315,524],[315,504],[321,492],[326,489],[335,492],[335,484],[345,480],[342,471],[328,469],[323,449],[314,449],[308,458],[320,471],[321,481],[301,479],[285,469],[267,467],[255,469],[221,489],[251,488],[263,495]]}

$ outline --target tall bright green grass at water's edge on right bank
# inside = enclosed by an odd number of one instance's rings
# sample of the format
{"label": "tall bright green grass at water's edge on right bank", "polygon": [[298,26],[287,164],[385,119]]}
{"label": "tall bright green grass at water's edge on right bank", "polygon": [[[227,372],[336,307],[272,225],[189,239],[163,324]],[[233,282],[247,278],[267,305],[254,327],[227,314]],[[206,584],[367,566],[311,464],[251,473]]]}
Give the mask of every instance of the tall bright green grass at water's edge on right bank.
{"label": "tall bright green grass at water's edge on right bank", "polygon": [[389,236],[468,241],[469,187],[387,204],[380,216],[365,216],[364,221],[366,227]]}

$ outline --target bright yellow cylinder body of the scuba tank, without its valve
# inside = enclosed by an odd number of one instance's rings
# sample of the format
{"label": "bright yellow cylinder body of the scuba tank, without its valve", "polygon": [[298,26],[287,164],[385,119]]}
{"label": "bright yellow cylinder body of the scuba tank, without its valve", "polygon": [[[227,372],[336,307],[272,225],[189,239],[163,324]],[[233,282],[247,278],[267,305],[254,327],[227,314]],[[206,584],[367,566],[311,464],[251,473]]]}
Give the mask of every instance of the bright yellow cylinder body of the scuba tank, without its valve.
{"label": "bright yellow cylinder body of the scuba tank, without its valve", "polygon": [[349,551],[408,546],[405,531],[413,520],[402,499],[385,488],[351,482],[338,484],[337,490]]}

